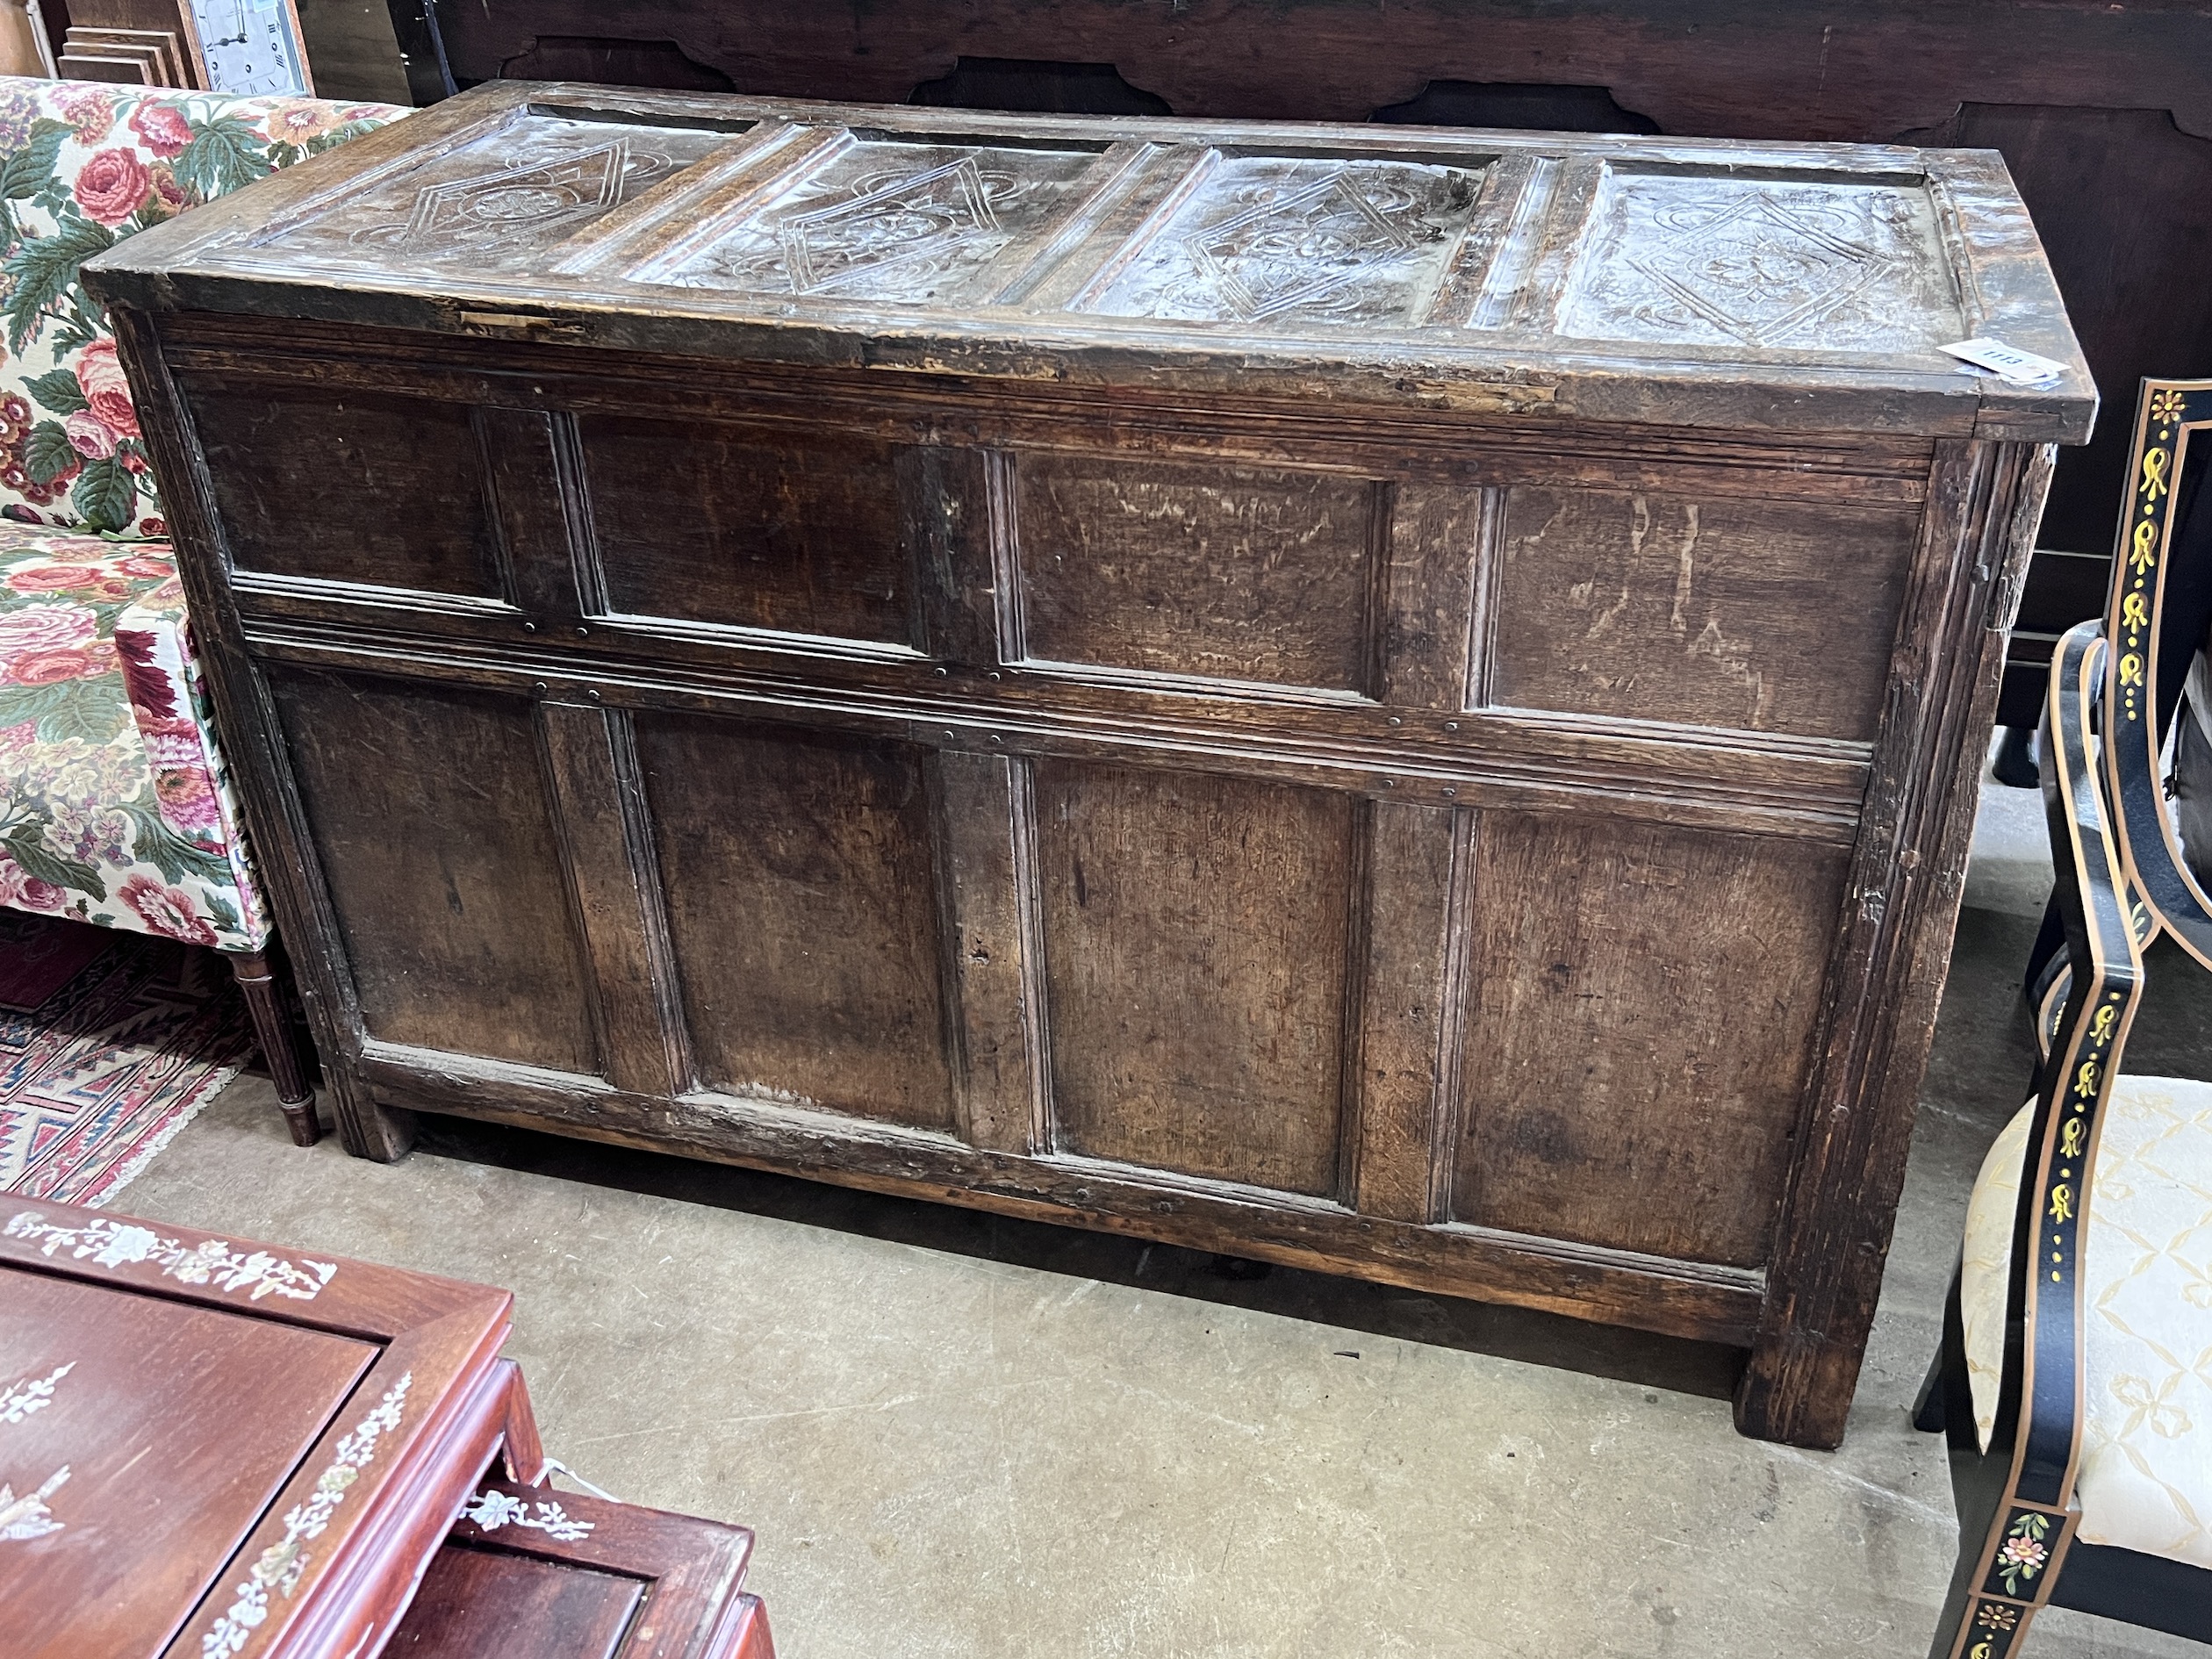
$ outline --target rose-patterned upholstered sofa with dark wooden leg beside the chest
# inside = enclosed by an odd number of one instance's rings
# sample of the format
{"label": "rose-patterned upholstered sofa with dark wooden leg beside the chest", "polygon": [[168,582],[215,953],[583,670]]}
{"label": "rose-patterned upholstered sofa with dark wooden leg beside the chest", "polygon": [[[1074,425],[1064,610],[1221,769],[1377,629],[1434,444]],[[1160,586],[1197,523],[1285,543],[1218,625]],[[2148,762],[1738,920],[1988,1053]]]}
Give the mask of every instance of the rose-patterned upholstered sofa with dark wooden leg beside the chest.
{"label": "rose-patterned upholstered sofa with dark wooden leg beside the chest", "polygon": [[294,1139],[314,1097],[164,540],[80,265],[407,111],[0,77],[0,905],[230,953]]}

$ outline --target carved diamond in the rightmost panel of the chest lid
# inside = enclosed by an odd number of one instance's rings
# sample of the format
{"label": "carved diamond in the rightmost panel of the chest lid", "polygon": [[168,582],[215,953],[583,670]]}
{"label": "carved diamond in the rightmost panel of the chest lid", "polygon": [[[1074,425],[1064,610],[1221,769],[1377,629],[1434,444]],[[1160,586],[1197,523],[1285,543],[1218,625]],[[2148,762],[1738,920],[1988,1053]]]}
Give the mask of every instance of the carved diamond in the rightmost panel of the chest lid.
{"label": "carved diamond in the rightmost panel of the chest lid", "polygon": [[1902,261],[1761,190],[1717,217],[1679,221],[1655,252],[1628,263],[1723,334],[1767,345],[1843,307]]}

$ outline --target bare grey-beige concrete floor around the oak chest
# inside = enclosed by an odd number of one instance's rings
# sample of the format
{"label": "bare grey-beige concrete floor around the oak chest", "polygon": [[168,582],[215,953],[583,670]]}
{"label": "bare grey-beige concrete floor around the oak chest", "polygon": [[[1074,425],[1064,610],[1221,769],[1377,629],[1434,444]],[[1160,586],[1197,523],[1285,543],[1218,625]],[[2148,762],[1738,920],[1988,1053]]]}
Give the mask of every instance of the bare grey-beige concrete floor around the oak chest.
{"label": "bare grey-beige concrete floor around the oak chest", "polygon": [[[117,1208],[511,1285],[546,1447],[759,1528],[787,1659],[1920,1655],[1955,1526],[1907,1409],[2028,1075],[2033,796],[1989,792],[1840,1453],[1739,1438],[1694,1345],[451,1121],[378,1168],[294,1150],[257,1077]],[[2205,1075],[2174,969],[2130,1071]]]}

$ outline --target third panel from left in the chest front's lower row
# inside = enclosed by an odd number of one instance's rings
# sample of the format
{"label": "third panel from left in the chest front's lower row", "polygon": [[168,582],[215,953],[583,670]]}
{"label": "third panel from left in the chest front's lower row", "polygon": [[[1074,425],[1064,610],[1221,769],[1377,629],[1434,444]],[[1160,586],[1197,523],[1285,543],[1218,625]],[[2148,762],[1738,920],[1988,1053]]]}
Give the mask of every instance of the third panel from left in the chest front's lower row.
{"label": "third panel from left in the chest front's lower row", "polygon": [[1336,1190],[1345,794],[1035,763],[1057,1146]]}

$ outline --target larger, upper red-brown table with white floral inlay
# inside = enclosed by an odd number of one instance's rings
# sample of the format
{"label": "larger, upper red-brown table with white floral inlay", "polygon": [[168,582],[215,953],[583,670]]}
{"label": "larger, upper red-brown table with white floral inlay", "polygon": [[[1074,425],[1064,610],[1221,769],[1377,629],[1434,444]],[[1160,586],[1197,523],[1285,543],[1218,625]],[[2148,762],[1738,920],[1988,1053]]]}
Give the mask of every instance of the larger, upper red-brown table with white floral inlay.
{"label": "larger, upper red-brown table with white floral inlay", "polygon": [[0,1201],[0,1606],[20,1659],[374,1648],[504,1451],[509,1294]]}

